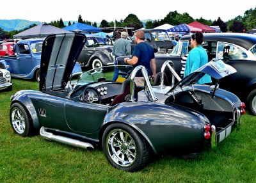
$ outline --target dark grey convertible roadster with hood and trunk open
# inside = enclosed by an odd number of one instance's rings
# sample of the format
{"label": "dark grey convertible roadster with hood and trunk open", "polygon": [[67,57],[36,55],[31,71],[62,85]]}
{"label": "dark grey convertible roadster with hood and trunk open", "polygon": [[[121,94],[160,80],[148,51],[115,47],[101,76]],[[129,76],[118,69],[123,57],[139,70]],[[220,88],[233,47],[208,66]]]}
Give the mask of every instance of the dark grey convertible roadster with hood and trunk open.
{"label": "dark grey convertible roadster with hood and trunk open", "polygon": [[[236,95],[217,84],[196,84],[205,73],[221,79],[236,72],[223,61],[211,61],[182,80],[172,61],[166,61],[153,86],[145,67],[132,70],[130,65],[95,68],[74,83],[68,77],[84,39],[79,34],[45,39],[40,91],[22,90],[11,97],[10,123],[16,134],[40,131],[45,139],[102,148],[112,166],[136,171],[146,166],[151,153],[196,156],[240,127],[244,104]],[[115,67],[119,76],[112,81]],[[164,68],[172,72],[170,83]],[[138,72],[145,87],[134,83]]]}

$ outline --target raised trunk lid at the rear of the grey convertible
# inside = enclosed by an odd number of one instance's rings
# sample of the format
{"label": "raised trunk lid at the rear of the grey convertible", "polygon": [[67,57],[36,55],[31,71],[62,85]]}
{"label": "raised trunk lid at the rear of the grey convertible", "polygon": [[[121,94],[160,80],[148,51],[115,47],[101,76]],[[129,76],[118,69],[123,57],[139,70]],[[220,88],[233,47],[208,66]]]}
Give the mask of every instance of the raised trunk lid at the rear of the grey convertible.
{"label": "raised trunk lid at the rear of the grey convertible", "polygon": [[[221,79],[222,77],[236,73],[236,69],[230,65],[225,64],[222,60],[212,60],[202,67],[198,68],[184,79],[180,80],[173,88],[169,91],[172,92],[179,86],[180,88],[196,84],[205,74],[208,74],[215,79]],[[168,93],[169,93],[168,92]]]}

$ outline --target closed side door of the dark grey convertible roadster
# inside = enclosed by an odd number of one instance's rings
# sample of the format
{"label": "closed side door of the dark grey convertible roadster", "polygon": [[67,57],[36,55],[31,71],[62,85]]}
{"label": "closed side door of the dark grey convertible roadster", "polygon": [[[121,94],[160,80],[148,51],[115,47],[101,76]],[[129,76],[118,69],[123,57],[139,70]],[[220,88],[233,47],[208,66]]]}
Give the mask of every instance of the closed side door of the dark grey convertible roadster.
{"label": "closed side door of the dark grey convertible roadster", "polygon": [[68,127],[72,131],[92,134],[99,131],[109,106],[70,100],[65,105]]}

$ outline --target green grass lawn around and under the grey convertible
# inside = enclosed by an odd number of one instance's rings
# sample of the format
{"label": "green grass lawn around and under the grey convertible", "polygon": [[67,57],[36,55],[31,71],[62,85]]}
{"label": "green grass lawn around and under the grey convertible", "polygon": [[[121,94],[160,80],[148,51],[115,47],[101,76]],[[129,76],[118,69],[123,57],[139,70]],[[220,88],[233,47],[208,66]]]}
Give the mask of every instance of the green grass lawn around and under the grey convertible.
{"label": "green grass lawn around and under the grey convertible", "polygon": [[135,173],[111,167],[100,150],[22,138],[10,126],[10,96],[38,90],[38,83],[13,79],[0,93],[0,182],[256,182],[256,116],[244,115],[240,131],[196,159],[159,156]]}

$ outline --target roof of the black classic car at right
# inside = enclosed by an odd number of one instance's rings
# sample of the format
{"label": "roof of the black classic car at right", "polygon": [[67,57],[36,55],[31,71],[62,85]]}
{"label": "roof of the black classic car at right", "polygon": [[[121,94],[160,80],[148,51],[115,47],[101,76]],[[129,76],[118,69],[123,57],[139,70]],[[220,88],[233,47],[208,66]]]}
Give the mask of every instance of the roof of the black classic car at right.
{"label": "roof of the black classic car at right", "polygon": [[[191,35],[185,35],[180,40],[190,40]],[[205,41],[228,42],[249,50],[256,44],[256,35],[246,33],[204,33]]]}

